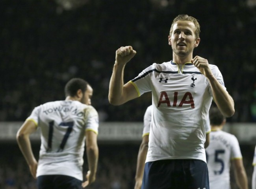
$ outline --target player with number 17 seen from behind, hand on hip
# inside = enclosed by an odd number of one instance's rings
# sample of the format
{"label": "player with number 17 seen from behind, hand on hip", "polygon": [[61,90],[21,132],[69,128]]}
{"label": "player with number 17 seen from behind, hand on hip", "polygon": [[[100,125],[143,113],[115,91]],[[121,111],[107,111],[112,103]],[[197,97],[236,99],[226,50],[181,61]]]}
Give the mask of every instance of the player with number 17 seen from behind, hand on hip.
{"label": "player with number 17 seen from behind, hand on hip", "polygon": [[[96,178],[98,164],[98,113],[91,106],[93,89],[80,78],[65,86],[66,99],[34,108],[17,132],[17,142],[39,189],[80,189]],[[39,161],[29,136],[41,128]],[[83,152],[89,171],[83,182]]]}

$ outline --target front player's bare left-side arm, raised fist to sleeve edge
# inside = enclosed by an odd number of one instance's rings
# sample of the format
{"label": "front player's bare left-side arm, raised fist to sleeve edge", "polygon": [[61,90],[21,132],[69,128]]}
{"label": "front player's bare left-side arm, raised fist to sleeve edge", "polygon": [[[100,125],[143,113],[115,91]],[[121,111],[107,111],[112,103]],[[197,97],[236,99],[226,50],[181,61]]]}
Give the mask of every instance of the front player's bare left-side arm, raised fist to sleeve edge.
{"label": "front player's bare left-side arm, raised fist to sleeve edge", "polygon": [[124,67],[135,54],[136,51],[132,49],[132,46],[121,47],[116,51],[108,94],[109,103],[112,105],[121,105],[138,97],[137,91],[131,83],[124,85]]}

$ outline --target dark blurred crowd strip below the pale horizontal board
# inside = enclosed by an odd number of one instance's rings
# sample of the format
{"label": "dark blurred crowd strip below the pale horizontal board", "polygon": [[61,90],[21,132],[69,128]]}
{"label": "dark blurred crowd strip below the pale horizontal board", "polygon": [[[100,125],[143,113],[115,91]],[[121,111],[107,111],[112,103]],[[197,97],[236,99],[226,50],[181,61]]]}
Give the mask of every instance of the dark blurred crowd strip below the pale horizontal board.
{"label": "dark blurred crowd strip below the pale horizontal board", "polygon": [[[33,144],[32,149],[38,154],[40,144]],[[252,158],[254,145],[241,145],[243,163],[248,176],[249,188],[252,178]],[[11,150],[9,150],[11,149]],[[0,188],[35,189],[36,180],[32,178],[28,165],[16,143],[0,145]],[[135,171],[139,143],[99,144],[99,163],[96,181],[87,189],[132,189],[135,184]],[[38,157],[36,157],[38,158]],[[84,156],[84,175],[87,172],[87,160]],[[231,167],[232,168],[232,167]],[[232,170],[232,169],[231,169]],[[231,171],[232,189],[238,189],[234,172]]]}

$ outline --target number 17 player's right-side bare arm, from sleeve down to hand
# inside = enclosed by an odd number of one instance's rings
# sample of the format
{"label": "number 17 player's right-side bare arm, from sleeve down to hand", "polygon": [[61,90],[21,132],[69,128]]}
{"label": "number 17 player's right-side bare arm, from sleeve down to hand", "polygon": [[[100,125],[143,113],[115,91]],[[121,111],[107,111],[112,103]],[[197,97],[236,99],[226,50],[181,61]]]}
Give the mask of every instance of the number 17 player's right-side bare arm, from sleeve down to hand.
{"label": "number 17 player's right-side bare arm, from sleeve down to hand", "polygon": [[89,171],[87,172],[87,180],[82,183],[83,187],[95,182],[98,166],[98,144],[97,134],[92,130],[85,131],[86,136],[86,154]]}

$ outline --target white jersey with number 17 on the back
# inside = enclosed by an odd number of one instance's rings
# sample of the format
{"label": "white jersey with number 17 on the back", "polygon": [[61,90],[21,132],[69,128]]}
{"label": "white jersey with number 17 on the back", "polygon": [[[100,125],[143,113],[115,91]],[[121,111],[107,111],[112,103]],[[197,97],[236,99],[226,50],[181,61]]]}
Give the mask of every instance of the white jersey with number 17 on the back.
{"label": "white jersey with number 17 on the back", "polygon": [[98,113],[79,101],[54,101],[34,108],[27,118],[41,128],[37,176],[61,174],[83,180],[85,131],[98,133]]}

